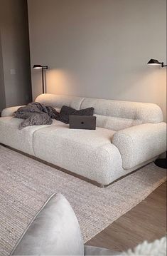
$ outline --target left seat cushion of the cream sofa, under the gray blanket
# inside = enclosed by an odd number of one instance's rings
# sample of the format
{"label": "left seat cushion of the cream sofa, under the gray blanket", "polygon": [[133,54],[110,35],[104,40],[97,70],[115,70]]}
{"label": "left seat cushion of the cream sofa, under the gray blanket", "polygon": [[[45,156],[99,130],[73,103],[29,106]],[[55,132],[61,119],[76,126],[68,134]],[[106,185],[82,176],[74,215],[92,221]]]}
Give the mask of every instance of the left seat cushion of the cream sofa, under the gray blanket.
{"label": "left seat cushion of the cream sofa, under the gray blanket", "polygon": [[[14,118],[12,116],[0,118],[0,143],[9,145],[11,148],[16,148],[24,153],[34,155],[33,153],[33,133],[36,130],[47,127],[45,126],[28,126],[22,130],[18,129],[23,119]],[[62,125],[59,121],[53,121],[50,126]]]}

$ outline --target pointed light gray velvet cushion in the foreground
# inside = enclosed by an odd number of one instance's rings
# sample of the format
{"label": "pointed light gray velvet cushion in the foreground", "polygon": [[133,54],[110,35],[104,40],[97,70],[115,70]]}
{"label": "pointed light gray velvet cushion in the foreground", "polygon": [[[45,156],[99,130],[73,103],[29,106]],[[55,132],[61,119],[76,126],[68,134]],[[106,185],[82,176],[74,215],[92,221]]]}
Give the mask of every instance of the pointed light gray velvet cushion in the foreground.
{"label": "pointed light gray velvet cushion in the foreground", "polygon": [[84,255],[77,217],[63,195],[49,198],[11,255]]}

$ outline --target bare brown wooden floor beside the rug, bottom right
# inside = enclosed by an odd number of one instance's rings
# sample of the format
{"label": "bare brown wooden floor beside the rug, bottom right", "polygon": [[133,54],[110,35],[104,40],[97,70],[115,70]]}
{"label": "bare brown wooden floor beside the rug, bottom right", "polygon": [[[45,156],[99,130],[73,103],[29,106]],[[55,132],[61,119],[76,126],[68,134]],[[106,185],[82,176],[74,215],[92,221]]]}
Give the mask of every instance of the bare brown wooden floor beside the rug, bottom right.
{"label": "bare brown wooden floor beside the rug, bottom right", "polygon": [[152,242],[166,234],[166,183],[153,191],[87,245],[122,251],[133,248],[144,240]]}

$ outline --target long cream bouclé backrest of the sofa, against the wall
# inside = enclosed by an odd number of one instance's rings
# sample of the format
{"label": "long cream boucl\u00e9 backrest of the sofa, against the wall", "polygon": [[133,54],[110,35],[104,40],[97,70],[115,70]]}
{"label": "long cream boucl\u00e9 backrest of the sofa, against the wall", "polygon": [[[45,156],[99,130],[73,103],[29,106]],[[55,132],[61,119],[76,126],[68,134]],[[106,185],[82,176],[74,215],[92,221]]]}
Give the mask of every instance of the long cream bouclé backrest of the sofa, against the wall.
{"label": "long cream boucl\u00e9 backrest of the sofa, against the wall", "polygon": [[37,102],[60,109],[63,105],[76,109],[93,107],[97,126],[111,130],[122,130],[141,123],[163,121],[161,108],[153,103],[112,101],[98,98],[82,98],[55,94],[41,94]]}

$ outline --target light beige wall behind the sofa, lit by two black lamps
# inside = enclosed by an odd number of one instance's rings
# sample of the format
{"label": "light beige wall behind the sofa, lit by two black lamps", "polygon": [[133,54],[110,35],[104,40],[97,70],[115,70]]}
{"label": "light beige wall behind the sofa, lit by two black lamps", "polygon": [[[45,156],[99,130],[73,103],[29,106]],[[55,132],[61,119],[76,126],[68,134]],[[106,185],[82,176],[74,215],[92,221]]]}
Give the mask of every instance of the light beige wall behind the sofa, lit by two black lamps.
{"label": "light beige wall behind the sofa, lit by two black lamps", "polygon": [[[28,0],[31,67],[48,93],[157,103],[166,110],[166,0]],[[32,69],[33,97],[41,72]]]}

